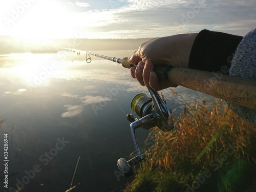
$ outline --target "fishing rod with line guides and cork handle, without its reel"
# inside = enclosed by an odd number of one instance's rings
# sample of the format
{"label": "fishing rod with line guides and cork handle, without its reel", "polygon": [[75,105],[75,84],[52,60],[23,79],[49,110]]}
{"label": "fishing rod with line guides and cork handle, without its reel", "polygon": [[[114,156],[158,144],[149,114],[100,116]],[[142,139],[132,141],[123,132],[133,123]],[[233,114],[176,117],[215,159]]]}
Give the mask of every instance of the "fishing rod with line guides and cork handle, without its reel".
{"label": "fishing rod with line guides and cork handle, without its reel", "polygon": [[[127,61],[127,57],[120,59],[99,55],[92,52],[76,49],[65,49],[67,51],[81,52],[87,55],[105,58],[121,63],[124,68],[136,67]],[[90,58],[91,59],[91,58]],[[89,61],[90,61],[89,59]],[[207,64],[207,63],[206,63]],[[237,76],[230,76],[215,72],[201,71],[182,67],[171,67],[167,65],[155,65],[154,71],[159,80],[169,80],[174,84],[199,91],[230,103],[236,103],[246,108],[256,110],[256,80],[246,79]]]}

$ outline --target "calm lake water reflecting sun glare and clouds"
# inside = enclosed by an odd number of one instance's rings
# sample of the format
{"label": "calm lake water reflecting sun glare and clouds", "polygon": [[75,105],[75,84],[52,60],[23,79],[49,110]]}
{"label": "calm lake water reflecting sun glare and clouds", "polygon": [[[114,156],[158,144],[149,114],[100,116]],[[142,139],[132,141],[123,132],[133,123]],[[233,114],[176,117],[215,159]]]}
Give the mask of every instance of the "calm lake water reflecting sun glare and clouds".
{"label": "calm lake water reflecting sun glare and clouds", "polygon": [[[97,53],[123,58],[133,52]],[[120,176],[116,161],[135,151],[125,114],[147,89],[121,65],[91,57],[87,63],[73,53],[0,55],[0,119],[6,119],[0,141],[4,146],[8,133],[11,191],[66,191],[78,157],[72,186],[79,185],[72,191],[120,191],[132,180]],[[205,96],[183,87],[174,91],[175,97],[162,92],[176,112],[183,100]],[[136,131],[141,147],[148,133]]]}

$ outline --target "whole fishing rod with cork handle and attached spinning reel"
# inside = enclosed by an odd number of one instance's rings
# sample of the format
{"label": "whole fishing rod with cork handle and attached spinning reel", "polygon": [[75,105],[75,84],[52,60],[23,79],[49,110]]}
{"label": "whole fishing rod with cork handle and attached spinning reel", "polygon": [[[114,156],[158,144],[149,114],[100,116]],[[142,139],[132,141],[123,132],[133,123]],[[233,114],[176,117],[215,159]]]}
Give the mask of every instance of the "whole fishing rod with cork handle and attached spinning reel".
{"label": "whole fishing rod with cork handle and attached spinning reel", "polygon": [[[124,68],[130,69],[131,67],[136,67],[136,65],[128,62],[127,57],[121,59],[77,49],[65,48],[63,50],[72,51],[77,55],[85,53],[87,62],[91,62],[90,55],[94,55],[121,63]],[[154,71],[159,80],[170,80],[180,86],[256,110],[256,81],[254,79],[245,79],[225,74],[221,74],[220,77],[214,72],[171,67],[167,65],[155,65]],[[132,167],[144,158],[139,151],[135,130],[139,127],[149,130],[151,127],[157,126],[160,130],[168,132],[174,128],[172,110],[166,105],[163,97],[150,88],[148,88],[148,92],[151,97],[145,94],[138,94],[131,102],[132,110],[136,112],[140,119],[134,118],[132,114],[127,114],[126,116],[127,120],[131,121],[130,128],[132,138],[138,154],[129,161],[126,161],[124,158],[120,158],[117,161],[119,169],[126,177],[132,175]]]}

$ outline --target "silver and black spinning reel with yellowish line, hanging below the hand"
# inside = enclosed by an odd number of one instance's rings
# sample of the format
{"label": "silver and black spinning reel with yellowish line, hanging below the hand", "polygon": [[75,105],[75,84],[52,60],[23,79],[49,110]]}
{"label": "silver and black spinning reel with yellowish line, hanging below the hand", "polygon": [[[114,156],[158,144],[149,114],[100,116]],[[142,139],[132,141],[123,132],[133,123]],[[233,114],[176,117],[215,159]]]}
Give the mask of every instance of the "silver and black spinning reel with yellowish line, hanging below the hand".
{"label": "silver and black spinning reel with yellowish line, hanging below the hand", "polygon": [[151,98],[145,94],[136,95],[132,102],[131,107],[134,112],[140,117],[134,118],[132,114],[127,114],[127,120],[131,121],[130,124],[132,138],[137,152],[137,156],[126,161],[120,158],[117,161],[117,166],[125,177],[130,177],[133,174],[133,166],[141,162],[144,156],[141,154],[138,142],[135,135],[135,130],[142,127],[145,130],[150,130],[152,127],[157,126],[163,132],[168,132],[174,129],[172,119],[172,110],[166,105],[163,97],[152,89],[148,88]]}

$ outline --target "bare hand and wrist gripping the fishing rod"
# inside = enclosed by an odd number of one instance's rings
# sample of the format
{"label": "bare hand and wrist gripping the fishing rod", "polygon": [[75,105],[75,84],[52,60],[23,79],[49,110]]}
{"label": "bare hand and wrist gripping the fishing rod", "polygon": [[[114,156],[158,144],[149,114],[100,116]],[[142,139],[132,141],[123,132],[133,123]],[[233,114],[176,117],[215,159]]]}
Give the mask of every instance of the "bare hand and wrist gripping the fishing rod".
{"label": "bare hand and wrist gripping the fishing rod", "polygon": [[165,64],[173,67],[188,67],[191,48],[197,33],[180,34],[154,38],[144,42],[128,59],[136,68],[131,68],[131,76],[142,86],[159,91],[178,85],[171,81],[159,81],[154,72],[154,65]]}

